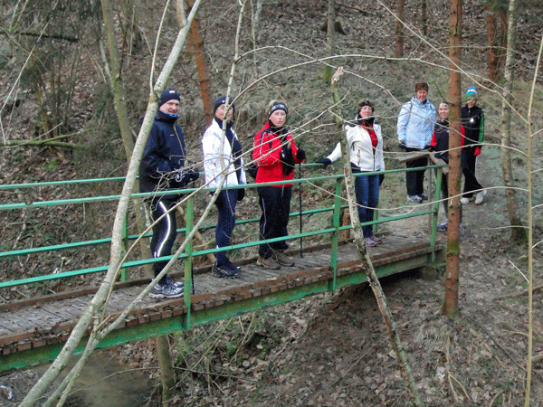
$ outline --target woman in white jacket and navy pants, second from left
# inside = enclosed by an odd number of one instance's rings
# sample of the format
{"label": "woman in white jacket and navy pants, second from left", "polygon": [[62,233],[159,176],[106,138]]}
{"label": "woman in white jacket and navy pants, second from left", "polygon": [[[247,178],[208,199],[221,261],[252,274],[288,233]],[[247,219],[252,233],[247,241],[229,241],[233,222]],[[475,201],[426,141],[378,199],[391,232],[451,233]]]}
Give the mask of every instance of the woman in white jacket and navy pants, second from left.
{"label": "woman in white jacket and navy pants, second from left", "polygon": [[[202,137],[205,183],[208,187],[216,189],[221,183],[223,175],[226,175],[223,188],[215,201],[219,213],[215,230],[217,248],[230,246],[230,238],[235,224],[235,206],[245,196],[244,188],[231,189],[231,187],[247,184],[243,171],[242,145],[232,128],[235,109],[232,99],[229,99],[228,105],[228,112],[225,112],[226,97],[216,99],[214,118]],[[226,121],[225,131],[223,130],[223,120]],[[214,277],[237,279],[240,268],[233,265],[224,251],[218,251],[212,274]]]}

